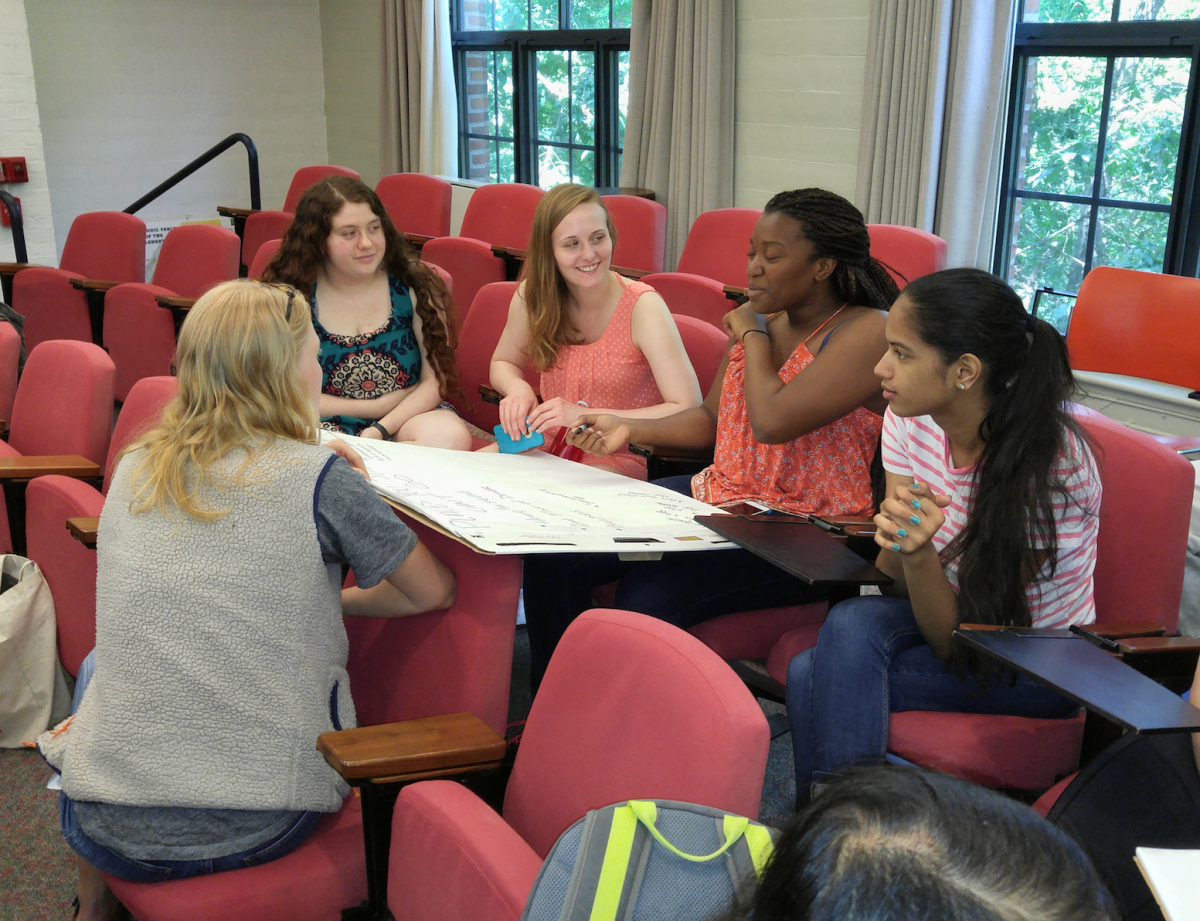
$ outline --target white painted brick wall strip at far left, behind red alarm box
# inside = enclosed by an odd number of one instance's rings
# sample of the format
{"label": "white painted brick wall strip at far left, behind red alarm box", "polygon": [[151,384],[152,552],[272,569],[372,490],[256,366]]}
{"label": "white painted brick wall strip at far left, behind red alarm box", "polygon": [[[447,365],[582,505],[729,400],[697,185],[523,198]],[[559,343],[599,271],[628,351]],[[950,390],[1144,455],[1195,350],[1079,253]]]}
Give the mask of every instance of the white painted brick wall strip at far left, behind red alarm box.
{"label": "white painted brick wall strip at far left, behind red alarm box", "polygon": [[[20,199],[30,261],[58,265],[25,0],[0,0],[0,157],[24,157],[29,169],[29,182],[0,188]],[[14,258],[12,230],[0,227],[0,263]]]}

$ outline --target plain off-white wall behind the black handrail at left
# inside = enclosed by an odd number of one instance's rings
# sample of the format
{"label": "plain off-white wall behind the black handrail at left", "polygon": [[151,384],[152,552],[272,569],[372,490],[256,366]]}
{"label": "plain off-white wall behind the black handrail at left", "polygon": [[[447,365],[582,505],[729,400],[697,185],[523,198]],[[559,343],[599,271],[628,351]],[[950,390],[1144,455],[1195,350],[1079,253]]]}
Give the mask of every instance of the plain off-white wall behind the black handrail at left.
{"label": "plain off-white wall behind the black handrail at left", "polygon": [[[0,0],[12,2],[12,0]],[[258,146],[264,207],[325,163],[319,0],[35,0],[26,5],[54,233],[119,211],[234,132]],[[138,216],[250,205],[239,145]]]}

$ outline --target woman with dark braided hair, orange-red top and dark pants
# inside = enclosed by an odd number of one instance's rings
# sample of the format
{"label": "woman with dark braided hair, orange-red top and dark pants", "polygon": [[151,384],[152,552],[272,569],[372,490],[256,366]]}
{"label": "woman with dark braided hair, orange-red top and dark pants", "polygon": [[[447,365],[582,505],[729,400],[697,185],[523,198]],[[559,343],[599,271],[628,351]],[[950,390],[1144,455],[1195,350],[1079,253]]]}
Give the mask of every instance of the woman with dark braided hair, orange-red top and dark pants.
{"label": "woman with dark braided hair, orange-red top and dark pants", "polygon": [[[863,216],[833,192],[773,197],[750,237],[749,303],[725,317],[730,349],[703,404],[661,419],[584,414],[571,441],[607,456],[630,443],[709,449],[713,464],[661,486],[710,505],[868,514],[884,403],[874,367],[896,297],[871,258]],[[671,553],[656,562],[530,556],[524,568],[534,685],[592,588],[620,578],[617,607],[688,628],[720,614],[814,600],[745,550]]]}

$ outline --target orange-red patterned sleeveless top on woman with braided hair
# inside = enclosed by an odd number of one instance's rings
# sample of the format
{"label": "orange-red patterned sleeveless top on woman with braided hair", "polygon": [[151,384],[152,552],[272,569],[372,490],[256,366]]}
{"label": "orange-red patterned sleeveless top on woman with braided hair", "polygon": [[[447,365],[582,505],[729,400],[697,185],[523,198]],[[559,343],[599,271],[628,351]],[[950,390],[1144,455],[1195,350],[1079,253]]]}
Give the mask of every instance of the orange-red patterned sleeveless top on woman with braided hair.
{"label": "orange-red patterned sleeveless top on woman with braided hair", "polygon": [[[812,363],[806,342],[779,369],[785,384]],[[756,441],[746,413],[745,347],[737,343],[721,384],[713,464],[692,477],[691,494],[716,506],[749,499],[784,512],[870,514],[870,469],[882,428],[881,416],[858,407],[782,445]]]}

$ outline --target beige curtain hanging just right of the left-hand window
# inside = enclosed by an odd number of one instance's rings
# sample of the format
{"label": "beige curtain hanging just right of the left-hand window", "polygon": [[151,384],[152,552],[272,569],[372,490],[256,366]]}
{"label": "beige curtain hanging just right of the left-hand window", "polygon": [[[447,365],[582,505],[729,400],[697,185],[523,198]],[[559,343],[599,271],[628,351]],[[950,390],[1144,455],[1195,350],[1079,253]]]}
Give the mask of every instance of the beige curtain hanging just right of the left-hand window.
{"label": "beige curtain hanging just right of the left-hand window", "polygon": [[691,222],[733,204],[736,5],[634,0],[620,185],[667,209],[666,265]]}

